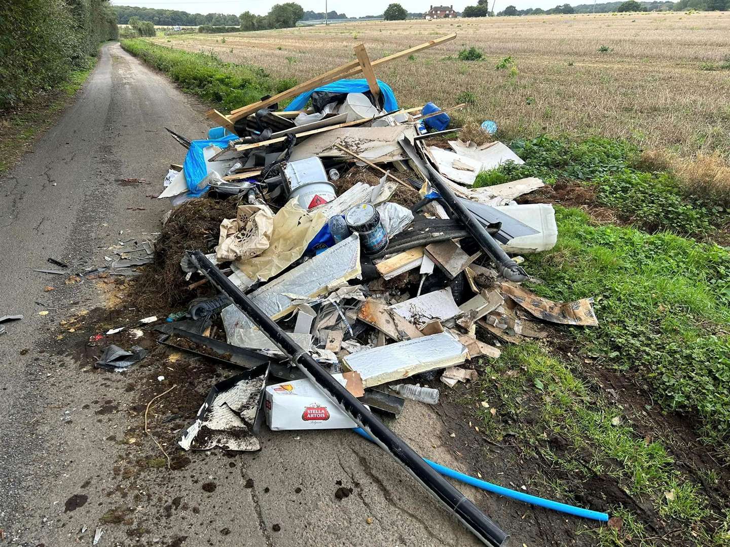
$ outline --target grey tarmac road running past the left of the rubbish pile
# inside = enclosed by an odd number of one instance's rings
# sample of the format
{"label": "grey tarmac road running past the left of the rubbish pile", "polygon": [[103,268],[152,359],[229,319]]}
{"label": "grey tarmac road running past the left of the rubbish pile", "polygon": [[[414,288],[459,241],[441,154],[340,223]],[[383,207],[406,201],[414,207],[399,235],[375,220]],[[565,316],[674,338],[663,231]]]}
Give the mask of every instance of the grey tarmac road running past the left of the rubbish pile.
{"label": "grey tarmac road running past the left of the rubbish pile", "polygon": [[[59,322],[96,308],[104,294],[93,282],[66,285],[67,276],[32,268],[58,269],[51,256],[77,269],[103,265],[120,231],[159,230],[169,203],[147,195],[184,155],[164,128],[199,137],[203,112],[107,44],[74,105],[1,180],[0,316],[25,316],[0,336],[4,540],[91,545],[100,527],[101,547],[476,545],[399,465],[347,431],[266,431],[258,453],[196,452],[183,470],[150,470],[121,486],[119,441],[142,419],[128,411],[125,388],[139,376],[91,374],[64,356]],[[129,178],[147,182],[118,181]],[[48,285],[56,290],[45,292]],[[456,465],[441,441],[449,432],[430,409],[406,410],[396,432],[423,456]],[[138,441],[153,451],[149,439]],[[211,481],[215,492],[201,488]],[[337,499],[337,481],[353,494]],[[460,488],[493,514],[493,497]],[[110,518],[119,508],[123,517]]]}

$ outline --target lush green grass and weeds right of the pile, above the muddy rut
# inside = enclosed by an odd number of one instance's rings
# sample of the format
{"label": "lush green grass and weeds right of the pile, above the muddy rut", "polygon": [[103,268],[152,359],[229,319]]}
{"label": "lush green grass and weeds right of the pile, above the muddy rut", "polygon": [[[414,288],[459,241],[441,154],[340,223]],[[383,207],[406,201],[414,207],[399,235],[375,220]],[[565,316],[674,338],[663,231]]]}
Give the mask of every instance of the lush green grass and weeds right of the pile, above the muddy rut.
{"label": "lush green grass and weeds right of the pile, above the muddy rut", "polygon": [[671,233],[593,226],[557,208],[558,244],[532,255],[532,287],[554,300],[593,296],[599,327],[569,330],[585,356],[631,371],[664,408],[730,440],[730,252]]}

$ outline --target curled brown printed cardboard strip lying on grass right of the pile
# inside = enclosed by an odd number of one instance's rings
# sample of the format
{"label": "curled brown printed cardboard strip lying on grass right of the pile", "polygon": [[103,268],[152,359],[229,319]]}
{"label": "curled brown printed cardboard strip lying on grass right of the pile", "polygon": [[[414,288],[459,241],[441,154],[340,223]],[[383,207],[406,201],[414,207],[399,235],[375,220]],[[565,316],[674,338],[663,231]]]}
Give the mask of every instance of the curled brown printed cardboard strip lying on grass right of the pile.
{"label": "curled brown printed cardboard strip lying on grass right of the pile", "polygon": [[562,325],[597,327],[598,319],[593,311],[593,298],[582,298],[575,302],[553,302],[535,295],[514,284],[502,283],[500,290],[538,319]]}

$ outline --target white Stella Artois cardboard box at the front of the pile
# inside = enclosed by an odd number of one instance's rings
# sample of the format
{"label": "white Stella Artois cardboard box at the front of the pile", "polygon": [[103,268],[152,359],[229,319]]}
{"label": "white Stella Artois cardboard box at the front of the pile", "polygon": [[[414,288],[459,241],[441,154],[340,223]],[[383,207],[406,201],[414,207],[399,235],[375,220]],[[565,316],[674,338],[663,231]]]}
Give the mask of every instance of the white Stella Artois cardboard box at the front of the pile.
{"label": "white Stella Artois cardboard box at the front of the pile", "polygon": [[[342,374],[332,377],[343,386]],[[279,430],[334,430],[358,427],[309,379],[286,381],[266,387],[266,424]]]}

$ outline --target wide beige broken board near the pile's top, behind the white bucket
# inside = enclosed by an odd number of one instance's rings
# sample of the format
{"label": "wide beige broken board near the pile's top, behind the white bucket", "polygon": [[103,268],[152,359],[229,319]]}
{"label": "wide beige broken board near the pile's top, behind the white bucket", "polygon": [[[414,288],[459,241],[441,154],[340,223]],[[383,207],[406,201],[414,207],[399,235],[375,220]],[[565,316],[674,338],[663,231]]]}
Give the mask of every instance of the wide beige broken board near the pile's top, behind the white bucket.
{"label": "wide beige broken board near the pile's top, behind the white bucket", "polygon": [[413,125],[388,125],[386,127],[348,127],[333,129],[313,135],[296,144],[289,161],[301,160],[312,156],[320,158],[339,158],[350,160],[352,156],[339,150],[335,144],[352,150],[361,158],[372,163],[389,163],[404,160],[398,139],[402,136],[415,136]]}

